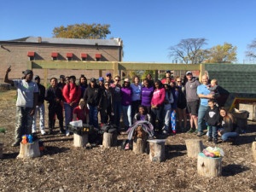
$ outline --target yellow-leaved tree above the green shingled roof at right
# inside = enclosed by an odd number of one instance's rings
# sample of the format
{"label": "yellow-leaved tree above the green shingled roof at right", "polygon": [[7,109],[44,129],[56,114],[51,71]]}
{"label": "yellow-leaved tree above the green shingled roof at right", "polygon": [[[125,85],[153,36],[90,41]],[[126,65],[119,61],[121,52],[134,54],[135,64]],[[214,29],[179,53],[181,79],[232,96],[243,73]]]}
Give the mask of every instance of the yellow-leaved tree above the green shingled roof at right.
{"label": "yellow-leaved tree above the green shingled roof at right", "polygon": [[209,49],[208,59],[205,63],[231,63],[236,61],[236,46],[224,43]]}

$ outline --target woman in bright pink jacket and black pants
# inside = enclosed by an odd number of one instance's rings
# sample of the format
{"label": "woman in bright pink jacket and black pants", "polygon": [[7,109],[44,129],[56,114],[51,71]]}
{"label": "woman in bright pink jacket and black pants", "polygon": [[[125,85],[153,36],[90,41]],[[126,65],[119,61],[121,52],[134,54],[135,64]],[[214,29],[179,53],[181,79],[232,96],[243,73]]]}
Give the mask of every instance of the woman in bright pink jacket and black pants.
{"label": "woman in bright pink jacket and black pants", "polygon": [[154,82],[154,93],[151,99],[151,115],[152,124],[154,125],[154,131],[156,131],[155,120],[158,120],[158,132],[161,133],[163,127],[163,109],[166,97],[166,90],[163,88],[160,80]]}

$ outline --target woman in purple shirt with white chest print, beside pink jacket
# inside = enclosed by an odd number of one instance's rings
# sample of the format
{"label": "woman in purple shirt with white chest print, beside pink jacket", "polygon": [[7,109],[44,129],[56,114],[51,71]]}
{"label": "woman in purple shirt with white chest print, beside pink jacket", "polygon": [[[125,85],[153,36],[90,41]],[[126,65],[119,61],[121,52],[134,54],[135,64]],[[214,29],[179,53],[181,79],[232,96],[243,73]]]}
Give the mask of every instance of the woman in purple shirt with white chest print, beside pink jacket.
{"label": "woman in purple shirt with white chest print, beside pink jacket", "polygon": [[142,89],[142,105],[147,109],[147,113],[151,113],[151,99],[154,92],[154,86],[149,84],[148,79],[143,80],[143,89]]}

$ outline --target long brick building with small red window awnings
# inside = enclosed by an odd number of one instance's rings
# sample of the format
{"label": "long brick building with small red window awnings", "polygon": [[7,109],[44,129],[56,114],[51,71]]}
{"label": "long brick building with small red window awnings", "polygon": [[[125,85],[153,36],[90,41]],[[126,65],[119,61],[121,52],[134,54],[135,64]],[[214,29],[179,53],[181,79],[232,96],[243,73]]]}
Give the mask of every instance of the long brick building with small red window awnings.
{"label": "long brick building with small red window awnings", "polygon": [[[122,61],[123,44],[120,38],[75,39],[27,37],[0,41],[0,82],[3,82],[6,69],[11,66],[9,79],[20,79],[27,68],[27,61]],[[42,69],[34,69],[34,74],[43,76]],[[98,78],[97,70],[49,69],[48,79],[63,75],[84,74],[87,79]],[[102,72],[105,75],[105,72]]]}

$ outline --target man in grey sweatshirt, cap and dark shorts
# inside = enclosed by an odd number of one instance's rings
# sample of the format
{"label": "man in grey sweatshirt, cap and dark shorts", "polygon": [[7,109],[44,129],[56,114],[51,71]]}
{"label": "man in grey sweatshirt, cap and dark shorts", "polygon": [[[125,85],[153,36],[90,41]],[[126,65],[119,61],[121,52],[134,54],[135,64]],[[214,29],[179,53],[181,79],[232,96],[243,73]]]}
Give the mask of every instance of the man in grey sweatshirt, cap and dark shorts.
{"label": "man in grey sweatshirt, cap and dark shorts", "polygon": [[[197,130],[197,116],[198,116],[198,108],[199,108],[199,97],[196,94],[197,87],[200,85],[200,82],[193,77],[192,72],[186,73],[186,78],[188,82],[185,84],[186,89],[186,100],[187,100],[187,108],[190,116],[190,129],[189,133],[195,132]],[[195,129],[194,129],[195,125]]]}

